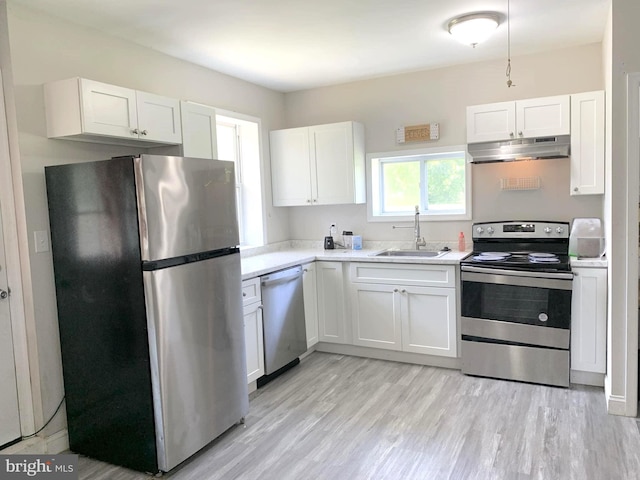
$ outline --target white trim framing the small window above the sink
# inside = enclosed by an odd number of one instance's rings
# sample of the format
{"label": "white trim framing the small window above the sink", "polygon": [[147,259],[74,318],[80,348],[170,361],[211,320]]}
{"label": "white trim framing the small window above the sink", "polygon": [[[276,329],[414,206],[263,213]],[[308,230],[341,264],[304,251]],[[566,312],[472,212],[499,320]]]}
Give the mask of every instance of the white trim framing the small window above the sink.
{"label": "white trim framing the small window above the sink", "polygon": [[413,213],[407,213],[405,215],[374,215],[373,214],[373,190],[377,190],[378,186],[373,185],[372,175],[372,163],[376,158],[389,158],[389,157],[411,157],[411,156],[424,156],[433,155],[437,153],[447,152],[465,152],[465,213],[463,214],[429,214],[427,212],[421,212],[421,222],[452,222],[461,220],[471,220],[471,163],[469,152],[466,145],[450,145],[446,147],[424,147],[416,150],[395,150],[391,152],[373,152],[367,154],[367,161],[365,162],[366,176],[367,176],[367,221],[369,222],[402,222],[407,221],[410,217],[413,217]]}

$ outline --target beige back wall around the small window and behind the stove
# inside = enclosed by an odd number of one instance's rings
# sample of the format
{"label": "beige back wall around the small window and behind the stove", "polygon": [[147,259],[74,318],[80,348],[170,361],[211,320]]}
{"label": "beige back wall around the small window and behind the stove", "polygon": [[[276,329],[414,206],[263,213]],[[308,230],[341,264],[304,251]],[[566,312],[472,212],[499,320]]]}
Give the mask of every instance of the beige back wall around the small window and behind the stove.
{"label": "beige back wall around the small window and behind the stove", "polygon": [[[460,145],[466,143],[468,105],[604,88],[600,44],[516,56],[512,78],[517,86],[512,88],[506,86],[505,66],[505,61],[481,62],[290,93],[285,96],[287,126],[356,120],[365,125],[367,152]],[[395,143],[397,127],[428,122],[440,123],[437,142]],[[569,195],[567,159],[472,169],[473,221],[602,217],[602,196]],[[520,176],[542,177],[542,188],[500,191],[500,178]],[[410,240],[407,231],[392,230],[389,223],[368,223],[363,205],[290,208],[293,238],[320,240],[331,222],[337,222],[338,231],[353,230],[365,240]],[[471,223],[425,222],[424,233],[427,241],[455,242],[462,230],[470,239]]]}

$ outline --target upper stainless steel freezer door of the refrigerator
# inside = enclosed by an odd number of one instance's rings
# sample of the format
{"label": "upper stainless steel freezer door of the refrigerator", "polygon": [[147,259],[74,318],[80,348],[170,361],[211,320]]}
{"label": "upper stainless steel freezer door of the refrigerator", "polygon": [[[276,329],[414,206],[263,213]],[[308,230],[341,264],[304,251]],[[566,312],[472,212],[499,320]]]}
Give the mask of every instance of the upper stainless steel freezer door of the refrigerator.
{"label": "upper stainless steel freezer door of the refrigerator", "polygon": [[159,155],[134,162],[143,261],[239,244],[233,162]]}

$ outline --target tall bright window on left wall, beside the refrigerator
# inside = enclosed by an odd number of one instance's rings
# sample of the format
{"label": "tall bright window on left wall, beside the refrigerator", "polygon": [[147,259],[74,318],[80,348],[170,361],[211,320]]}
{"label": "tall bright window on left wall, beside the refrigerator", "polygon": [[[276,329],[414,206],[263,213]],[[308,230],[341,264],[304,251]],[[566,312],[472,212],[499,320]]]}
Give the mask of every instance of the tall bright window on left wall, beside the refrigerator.
{"label": "tall bright window on left wall, beside the refrigerator", "polygon": [[[221,112],[217,110],[217,112]],[[232,112],[216,115],[218,158],[236,164],[236,203],[241,246],[264,245],[260,121]]]}

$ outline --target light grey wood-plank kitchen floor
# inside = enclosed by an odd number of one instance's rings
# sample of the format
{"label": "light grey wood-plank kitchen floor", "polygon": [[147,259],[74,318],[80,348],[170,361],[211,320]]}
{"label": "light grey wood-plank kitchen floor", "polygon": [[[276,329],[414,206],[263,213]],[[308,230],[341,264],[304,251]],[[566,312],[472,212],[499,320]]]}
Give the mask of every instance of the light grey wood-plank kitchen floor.
{"label": "light grey wood-plank kitchen floor", "polygon": [[[81,479],[148,475],[80,458]],[[164,478],[639,479],[635,418],[602,389],[313,353],[251,396],[245,426]]]}

